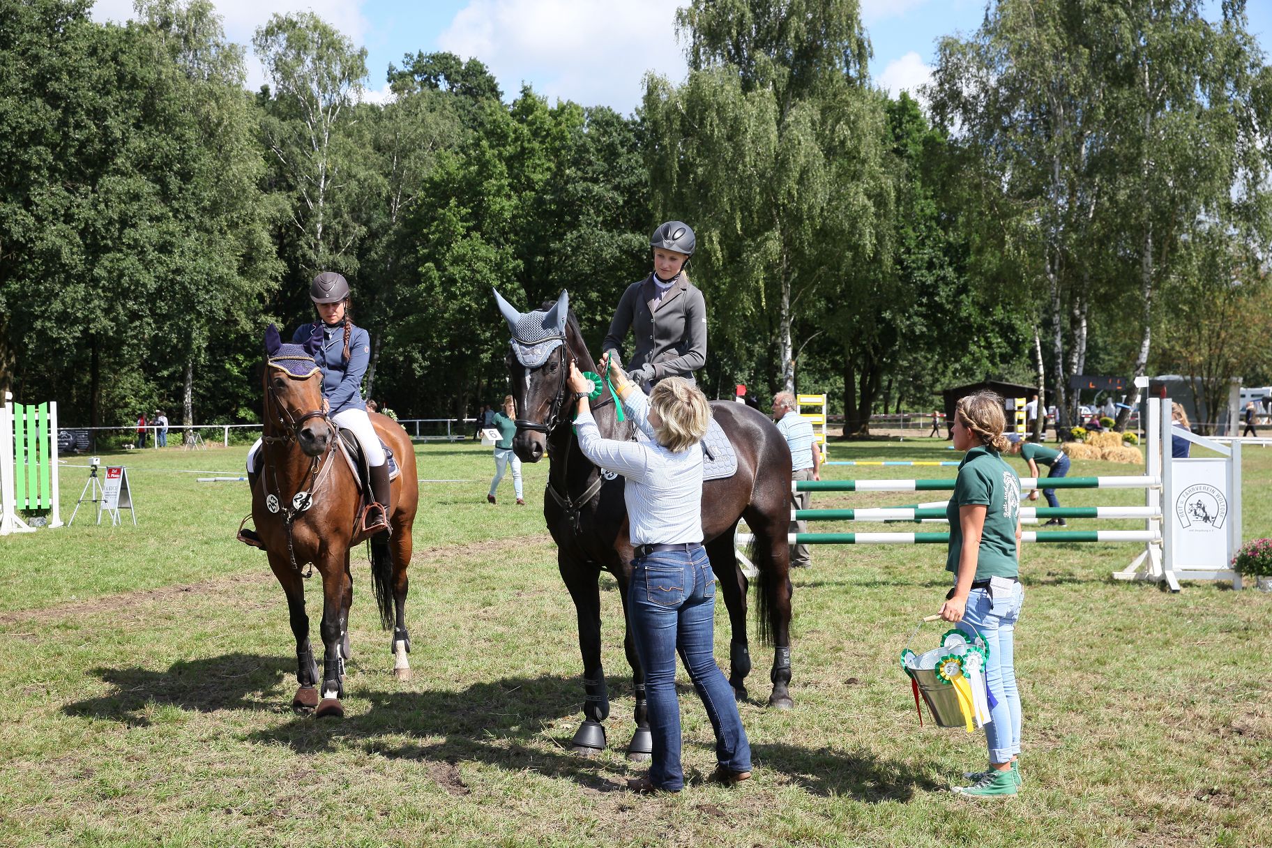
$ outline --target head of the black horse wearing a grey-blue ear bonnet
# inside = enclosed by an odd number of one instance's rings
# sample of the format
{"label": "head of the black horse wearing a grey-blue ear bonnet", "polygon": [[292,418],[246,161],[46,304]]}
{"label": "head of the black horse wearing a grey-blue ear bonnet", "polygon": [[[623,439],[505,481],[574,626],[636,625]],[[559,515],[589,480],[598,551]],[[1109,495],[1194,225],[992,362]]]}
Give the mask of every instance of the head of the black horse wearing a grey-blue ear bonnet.
{"label": "head of the black horse wearing a grey-blue ear bonnet", "polygon": [[[509,386],[516,402],[513,450],[522,462],[537,463],[547,453],[548,434],[562,421],[570,359],[577,357],[577,332],[570,333],[570,292],[530,313],[518,311],[496,291],[499,310],[513,338],[506,357]],[[586,351],[583,351],[586,356]],[[583,360],[580,360],[580,366]],[[565,418],[569,425],[569,418]]]}

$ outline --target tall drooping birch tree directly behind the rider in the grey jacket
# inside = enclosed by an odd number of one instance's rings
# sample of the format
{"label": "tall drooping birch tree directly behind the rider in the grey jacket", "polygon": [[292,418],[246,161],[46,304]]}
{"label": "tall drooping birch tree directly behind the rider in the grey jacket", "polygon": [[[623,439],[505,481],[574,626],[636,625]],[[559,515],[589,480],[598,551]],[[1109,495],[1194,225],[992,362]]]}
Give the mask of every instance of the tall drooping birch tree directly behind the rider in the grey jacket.
{"label": "tall drooping birch tree directly behind the rider in the grey jacket", "polygon": [[875,256],[889,202],[857,3],[695,1],[677,20],[689,78],[650,76],[644,100],[654,207],[700,233],[714,350],[754,369],[762,339],[766,381],[792,389],[796,324]]}

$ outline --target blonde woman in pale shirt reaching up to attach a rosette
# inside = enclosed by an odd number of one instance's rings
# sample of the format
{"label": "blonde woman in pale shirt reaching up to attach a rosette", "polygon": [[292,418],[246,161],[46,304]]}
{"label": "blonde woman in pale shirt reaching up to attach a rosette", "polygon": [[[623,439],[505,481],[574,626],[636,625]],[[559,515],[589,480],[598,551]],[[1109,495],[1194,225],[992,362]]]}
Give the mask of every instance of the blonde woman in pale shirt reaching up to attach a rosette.
{"label": "blonde woman in pale shirt reaching up to attach a rosette", "polygon": [[716,736],[714,781],[733,784],[750,777],[750,745],[733,689],[712,655],[715,575],[702,547],[702,451],[711,411],[702,392],[682,378],[667,378],[649,398],[627,379],[617,357],[609,375],[628,417],[646,440],[602,439],[591,417],[591,381],[576,364],[569,385],[579,403],[574,421],[583,454],[622,474],[631,544],[627,614],[636,653],[645,670],[653,762],[644,777],[628,781],[636,792],[679,792],[681,706],[675,697],[675,653],[693,680]]}

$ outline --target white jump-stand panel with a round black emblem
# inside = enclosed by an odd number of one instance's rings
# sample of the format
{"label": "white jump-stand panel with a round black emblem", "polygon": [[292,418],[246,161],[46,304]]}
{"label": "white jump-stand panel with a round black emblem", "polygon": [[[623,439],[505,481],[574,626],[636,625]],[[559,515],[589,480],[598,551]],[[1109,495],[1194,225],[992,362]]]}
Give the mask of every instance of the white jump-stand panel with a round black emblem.
{"label": "white jump-stand panel with a round black emblem", "polygon": [[1174,567],[1226,571],[1229,562],[1227,462],[1216,459],[1175,459],[1174,497],[1163,503],[1172,523]]}

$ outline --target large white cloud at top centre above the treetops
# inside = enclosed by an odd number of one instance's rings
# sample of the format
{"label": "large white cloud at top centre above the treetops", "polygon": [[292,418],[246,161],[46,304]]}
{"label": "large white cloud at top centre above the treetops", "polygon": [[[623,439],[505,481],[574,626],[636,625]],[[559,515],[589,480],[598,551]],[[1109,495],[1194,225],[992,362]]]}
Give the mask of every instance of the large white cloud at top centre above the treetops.
{"label": "large white cloud at top centre above the treetops", "polygon": [[550,99],[632,111],[641,79],[656,71],[679,81],[675,39],[683,0],[471,0],[438,38],[441,50],[483,61],[505,95],[523,81]]}

